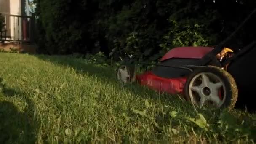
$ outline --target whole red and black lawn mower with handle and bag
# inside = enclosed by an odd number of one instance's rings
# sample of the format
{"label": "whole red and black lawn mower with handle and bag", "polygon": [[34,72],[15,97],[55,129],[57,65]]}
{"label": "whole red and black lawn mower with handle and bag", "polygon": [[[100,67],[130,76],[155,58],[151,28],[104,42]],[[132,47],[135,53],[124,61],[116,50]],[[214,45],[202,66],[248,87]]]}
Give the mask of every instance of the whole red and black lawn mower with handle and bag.
{"label": "whole red and black lawn mower with handle and bag", "polygon": [[[117,79],[122,83],[138,82],[159,92],[182,94],[194,106],[215,108],[235,107],[239,95],[252,91],[256,70],[246,64],[255,59],[256,41],[240,51],[225,48],[224,44],[251,17],[254,10],[226,40],[213,47],[179,47],[166,53],[159,64],[142,74],[135,67],[122,65]],[[139,64],[148,64],[138,62]]]}

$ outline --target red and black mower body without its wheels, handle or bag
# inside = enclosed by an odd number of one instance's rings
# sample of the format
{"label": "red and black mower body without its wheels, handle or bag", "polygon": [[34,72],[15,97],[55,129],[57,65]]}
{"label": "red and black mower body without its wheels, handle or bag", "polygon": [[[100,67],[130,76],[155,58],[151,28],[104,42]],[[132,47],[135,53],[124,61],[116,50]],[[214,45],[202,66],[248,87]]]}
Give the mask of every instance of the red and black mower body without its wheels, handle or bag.
{"label": "red and black mower body without its wheels, handle or bag", "polygon": [[[160,60],[165,66],[195,65],[213,47],[179,47],[173,48]],[[191,73],[188,69],[177,67],[157,66],[151,71],[136,75],[136,80],[141,85],[146,85],[158,92],[170,94],[183,93],[187,76]]]}

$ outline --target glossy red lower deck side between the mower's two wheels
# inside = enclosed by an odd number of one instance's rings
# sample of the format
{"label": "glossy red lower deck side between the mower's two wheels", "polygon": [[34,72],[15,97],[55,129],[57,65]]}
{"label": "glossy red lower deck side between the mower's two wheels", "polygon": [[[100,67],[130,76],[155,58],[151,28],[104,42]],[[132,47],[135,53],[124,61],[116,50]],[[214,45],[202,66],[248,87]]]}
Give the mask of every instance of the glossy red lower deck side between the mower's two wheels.
{"label": "glossy red lower deck side between the mower's two wheels", "polygon": [[167,92],[169,94],[178,94],[183,92],[186,83],[186,77],[179,78],[163,78],[154,75],[152,72],[145,72],[141,75],[136,75],[136,80],[144,86],[158,92]]}

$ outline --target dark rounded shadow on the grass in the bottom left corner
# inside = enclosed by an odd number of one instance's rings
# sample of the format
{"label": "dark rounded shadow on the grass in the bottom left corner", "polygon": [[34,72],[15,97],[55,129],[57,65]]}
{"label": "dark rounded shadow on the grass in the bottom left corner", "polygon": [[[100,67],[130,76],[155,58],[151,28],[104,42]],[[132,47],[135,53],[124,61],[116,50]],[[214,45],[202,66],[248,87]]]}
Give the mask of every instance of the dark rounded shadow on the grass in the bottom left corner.
{"label": "dark rounded shadow on the grass in the bottom left corner", "polygon": [[3,96],[19,96],[27,103],[21,112],[12,102],[0,101],[0,143],[1,144],[34,144],[40,123],[34,115],[35,107],[31,99],[24,93],[13,89],[2,88]]}

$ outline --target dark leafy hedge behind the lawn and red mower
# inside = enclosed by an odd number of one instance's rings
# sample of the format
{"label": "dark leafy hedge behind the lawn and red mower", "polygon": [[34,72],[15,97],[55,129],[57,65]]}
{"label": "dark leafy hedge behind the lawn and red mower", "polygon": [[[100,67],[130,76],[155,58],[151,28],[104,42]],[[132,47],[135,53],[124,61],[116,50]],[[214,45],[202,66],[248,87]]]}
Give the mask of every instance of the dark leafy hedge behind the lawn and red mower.
{"label": "dark leafy hedge behind the lawn and red mower", "polygon": [[[40,52],[97,53],[156,61],[178,46],[216,45],[256,6],[255,0],[36,0]],[[254,16],[254,19],[256,16]],[[253,18],[252,18],[253,19]],[[253,40],[250,21],[227,46]]]}

